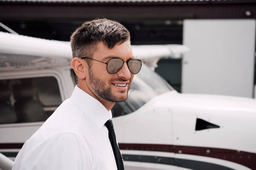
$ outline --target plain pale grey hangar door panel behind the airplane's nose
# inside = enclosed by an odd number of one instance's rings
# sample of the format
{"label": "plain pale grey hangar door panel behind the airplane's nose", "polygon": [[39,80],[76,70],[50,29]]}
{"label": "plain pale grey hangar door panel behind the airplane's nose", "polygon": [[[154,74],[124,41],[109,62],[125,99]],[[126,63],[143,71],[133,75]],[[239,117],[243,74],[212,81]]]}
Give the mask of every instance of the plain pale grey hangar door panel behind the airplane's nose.
{"label": "plain pale grey hangar door panel behind the airplane's nose", "polygon": [[182,93],[253,98],[255,20],[185,20]]}

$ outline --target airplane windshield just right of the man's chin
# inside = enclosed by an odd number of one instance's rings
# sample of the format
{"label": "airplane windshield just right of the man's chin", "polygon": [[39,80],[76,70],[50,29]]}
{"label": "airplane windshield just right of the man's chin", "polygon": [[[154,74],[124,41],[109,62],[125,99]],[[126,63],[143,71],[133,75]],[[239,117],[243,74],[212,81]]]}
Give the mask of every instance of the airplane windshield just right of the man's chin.
{"label": "airplane windshield just right of the man's chin", "polygon": [[171,90],[173,88],[162,77],[143,65],[134,76],[127,100],[116,102],[111,110],[113,117],[132,113],[154,97]]}

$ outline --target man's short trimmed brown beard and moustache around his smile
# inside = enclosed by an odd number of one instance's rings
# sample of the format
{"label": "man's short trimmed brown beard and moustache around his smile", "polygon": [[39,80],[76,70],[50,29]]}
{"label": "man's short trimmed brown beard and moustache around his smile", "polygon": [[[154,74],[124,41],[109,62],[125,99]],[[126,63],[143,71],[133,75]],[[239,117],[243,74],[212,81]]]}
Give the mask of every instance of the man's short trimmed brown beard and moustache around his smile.
{"label": "man's short trimmed brown beard and moustache around his smile", "polygon": [[[101,79],[96,77],[92,71],[89,72],[89,78],[90,78],[90,84],[92,85],[93,90],[95,93],[101,97],[102,99],[105,99],[110,102],[123,102],[127,99],[128,91],[131,86],[131,81],[129,84],[127,84],[128,90],[127,91],[120,91],[119,93],[124,95],[118,95],[113,94],[111,87],[106,85],[105,82],[103,82]],[[117,79],[111,79],[110,82],[113,81],[126,81],[125,79],[117,78]]]}

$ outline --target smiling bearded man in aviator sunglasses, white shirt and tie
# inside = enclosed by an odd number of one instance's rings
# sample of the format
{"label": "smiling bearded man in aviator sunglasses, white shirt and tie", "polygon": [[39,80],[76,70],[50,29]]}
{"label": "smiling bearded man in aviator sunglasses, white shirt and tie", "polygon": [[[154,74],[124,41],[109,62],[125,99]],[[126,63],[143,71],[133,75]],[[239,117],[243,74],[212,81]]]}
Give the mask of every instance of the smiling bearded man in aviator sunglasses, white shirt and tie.
{"label": "smiling bearded man in aviator sunglasses, white shirt and tie", "polygon": [[73,33],[71,47],[77,86],[26,141],[13,170],[123,169],[122,157],[116,158],[119,149],[116,153],[113,147],[116,140],[110,142],[113,130],[108,131],[105,123],[112,118],[115,102],[127,98],[141,68],[131,50],[130,34],[115,21],[93,20]]}

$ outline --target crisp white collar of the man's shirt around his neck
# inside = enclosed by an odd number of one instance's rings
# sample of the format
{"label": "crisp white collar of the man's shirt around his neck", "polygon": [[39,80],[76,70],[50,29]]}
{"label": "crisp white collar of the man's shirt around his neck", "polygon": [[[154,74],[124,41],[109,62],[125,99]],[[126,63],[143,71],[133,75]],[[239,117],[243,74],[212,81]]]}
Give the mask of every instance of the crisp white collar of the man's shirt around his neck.
{"label": "crisp white collar of the man's shirt around his neck", "polygon": [[111,111],[108,111],[105,106],[102,105],[94,97],[90,96],[81,88],[75,87],[71,97],[71,101],[77,105],[98,127],[102,127],[107,120],[112,118]]}

